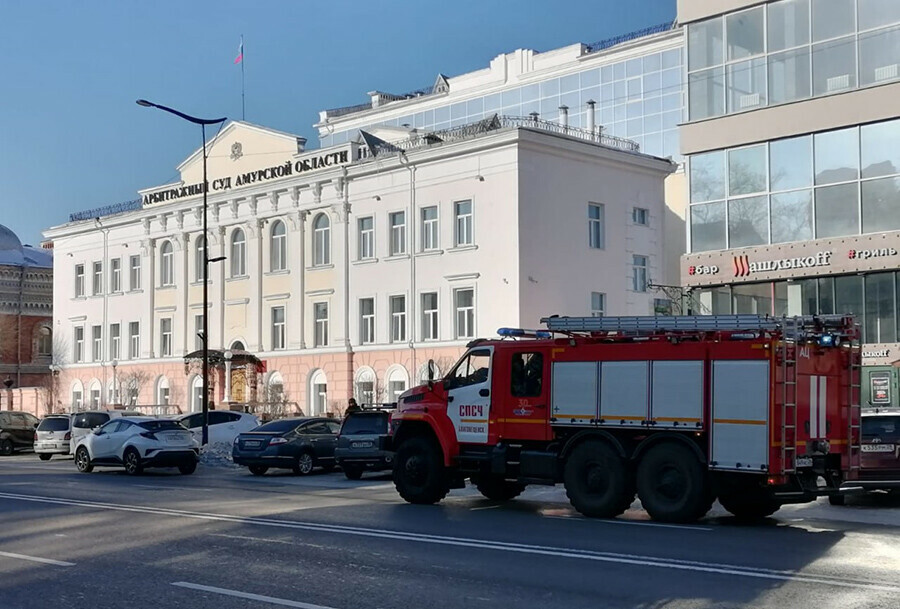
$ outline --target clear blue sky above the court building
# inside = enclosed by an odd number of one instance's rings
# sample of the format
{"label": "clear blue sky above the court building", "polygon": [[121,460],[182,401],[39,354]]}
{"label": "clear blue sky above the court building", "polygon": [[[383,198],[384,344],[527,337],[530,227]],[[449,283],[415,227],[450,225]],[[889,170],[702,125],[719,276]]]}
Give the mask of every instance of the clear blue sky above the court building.
{"label": "clear blue sky above the court building", "polygon": [[305,135],[324,108],[674,20],[675,0],[0,0],[0,224],[25,243],[73,211],[177,178],[199,129],[137,106]]}

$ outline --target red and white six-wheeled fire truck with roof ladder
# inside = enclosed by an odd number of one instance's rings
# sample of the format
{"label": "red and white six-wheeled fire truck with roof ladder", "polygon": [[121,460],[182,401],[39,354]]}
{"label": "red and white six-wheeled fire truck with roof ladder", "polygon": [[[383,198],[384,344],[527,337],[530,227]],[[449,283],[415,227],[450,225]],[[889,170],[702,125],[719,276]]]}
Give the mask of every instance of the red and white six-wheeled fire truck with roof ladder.
{"label": "red and white six-wheeled fire truck with roof ladder", "polygon": [[[394,483],[433,504],[562,483],[588,517],[640,498],[664,522],[836,495],[860,464],[849,316],[559,317],[501,328],[399,398]],[[852,486],[852,485],[851,485]],[[845,484],[845,490],[847,485]]]}

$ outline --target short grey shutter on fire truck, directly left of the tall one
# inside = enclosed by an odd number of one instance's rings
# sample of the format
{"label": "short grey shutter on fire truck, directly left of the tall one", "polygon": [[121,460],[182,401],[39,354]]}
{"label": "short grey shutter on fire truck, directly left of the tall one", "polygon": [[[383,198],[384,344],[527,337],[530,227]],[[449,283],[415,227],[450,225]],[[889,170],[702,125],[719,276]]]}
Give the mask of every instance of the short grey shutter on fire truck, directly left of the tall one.
{"label": "short grey shutter on fire truck, directly left of the tall one", "polygon": [[703,362],[656,361],[650,420],[654,428],[698,429],[703,422]]}

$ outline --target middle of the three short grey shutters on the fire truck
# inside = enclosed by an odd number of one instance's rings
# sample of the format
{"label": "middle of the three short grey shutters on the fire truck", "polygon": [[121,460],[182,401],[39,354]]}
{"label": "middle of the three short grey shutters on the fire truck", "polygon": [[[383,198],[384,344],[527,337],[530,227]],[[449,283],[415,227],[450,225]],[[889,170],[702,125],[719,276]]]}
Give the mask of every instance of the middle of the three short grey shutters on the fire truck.
{"label": "middle of the three short grey shutters on the fire truck", "polygon": [[600,419],[608,427],[640,427],[649,410],[650,363],[603,362]]}

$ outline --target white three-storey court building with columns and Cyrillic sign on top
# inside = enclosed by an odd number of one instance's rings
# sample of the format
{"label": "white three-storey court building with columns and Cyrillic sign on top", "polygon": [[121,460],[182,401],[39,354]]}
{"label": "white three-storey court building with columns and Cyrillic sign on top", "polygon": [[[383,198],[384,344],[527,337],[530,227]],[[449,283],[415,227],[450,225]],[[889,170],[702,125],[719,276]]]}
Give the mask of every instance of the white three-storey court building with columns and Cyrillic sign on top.
{"label": "white three-storey court building with columns and Cyrillic sign on top", "polygon": [[[551,314],[652,314],[648,283],[677,280],[664,187],[675,165],[628,140],[495,115],[364,131],[310,152],[234,122],[210,143],[209,257],[226,259],[210,266],[209,347],[265,370],[263,387],[232,374],[228,391],[217,369],[215,403],[391,401],[471,338]],[[200,408],[184,356],[201,348],[201,151],[179,171],[140,201],[46,231],[73,405]]]}

